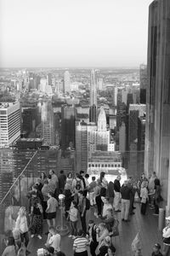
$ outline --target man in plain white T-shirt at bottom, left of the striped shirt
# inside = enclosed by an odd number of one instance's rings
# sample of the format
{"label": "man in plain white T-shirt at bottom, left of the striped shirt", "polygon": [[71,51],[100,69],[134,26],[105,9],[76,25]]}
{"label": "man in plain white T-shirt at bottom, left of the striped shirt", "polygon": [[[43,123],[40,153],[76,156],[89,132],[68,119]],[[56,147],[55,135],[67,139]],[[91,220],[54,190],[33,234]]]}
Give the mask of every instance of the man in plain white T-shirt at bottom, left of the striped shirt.
{"label": "man in plain white T-shirt at bottom, left of the striped shirt", "polygon": [[61,236],[57,233],[54,226],[50,226],[46,246],[54,247],[54,251],[59,252],[60,251],[60,241],[61,241]]}

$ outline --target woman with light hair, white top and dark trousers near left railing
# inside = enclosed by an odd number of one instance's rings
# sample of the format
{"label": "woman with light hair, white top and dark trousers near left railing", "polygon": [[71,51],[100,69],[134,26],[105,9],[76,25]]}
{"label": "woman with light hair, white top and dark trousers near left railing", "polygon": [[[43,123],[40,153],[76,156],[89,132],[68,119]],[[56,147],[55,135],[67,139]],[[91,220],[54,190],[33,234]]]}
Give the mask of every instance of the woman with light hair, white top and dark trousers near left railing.
{"label": "woman with light hair, white top and dark trousers near left railing", "polygon": [[[20,239],[22,242],[25,242],[25,247],[28,246],[29,235],[28,235],[28,222],[27,222],[27,213],[26,207],[20,207],[18,212],[18,217],[16,219],[16,224],[14,230],[20,230]],[[26,250],[26,253],[30,253]]]}

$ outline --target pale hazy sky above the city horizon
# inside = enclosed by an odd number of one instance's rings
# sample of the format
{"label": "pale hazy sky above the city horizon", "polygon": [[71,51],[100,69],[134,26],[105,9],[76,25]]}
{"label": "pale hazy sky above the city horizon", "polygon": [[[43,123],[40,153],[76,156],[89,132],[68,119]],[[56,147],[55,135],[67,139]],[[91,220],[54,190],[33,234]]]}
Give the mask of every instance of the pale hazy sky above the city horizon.
{"label": "pale hazy sky above the city horizon", "polygon": [[152,0],[0,0],[0,67],[138,67]]}

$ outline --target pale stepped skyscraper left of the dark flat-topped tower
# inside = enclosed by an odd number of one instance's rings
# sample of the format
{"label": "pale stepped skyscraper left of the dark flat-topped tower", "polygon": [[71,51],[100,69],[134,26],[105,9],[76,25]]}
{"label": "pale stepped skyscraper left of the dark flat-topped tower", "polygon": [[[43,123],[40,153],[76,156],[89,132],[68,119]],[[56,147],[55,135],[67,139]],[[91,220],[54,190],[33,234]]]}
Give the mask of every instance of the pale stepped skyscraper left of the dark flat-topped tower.
{"label": "pale stepped skyscraper left of the dark flat-topped tower", "polygon": [[51,102],[42,104],[42,138],[47,145],[55,144],[54,110]]}

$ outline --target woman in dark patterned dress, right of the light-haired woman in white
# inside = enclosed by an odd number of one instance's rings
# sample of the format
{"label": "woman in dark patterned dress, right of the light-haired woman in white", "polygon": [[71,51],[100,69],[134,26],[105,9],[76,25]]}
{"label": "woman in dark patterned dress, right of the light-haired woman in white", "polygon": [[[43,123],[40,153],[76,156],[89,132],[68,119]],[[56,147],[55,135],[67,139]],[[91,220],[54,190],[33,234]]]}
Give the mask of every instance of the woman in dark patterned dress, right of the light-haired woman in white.
{"label": "woman in dark patterned dress, right of the light-haired woman in white", "polygon": [[34,196],[33,205],[31,206],[32,224],[31,224],[31,238],[37,235],[39,239],[42,239],[42,205],[36,192],[32,194]]}

